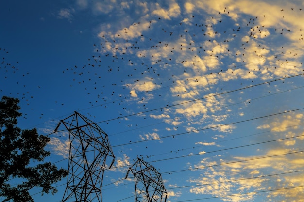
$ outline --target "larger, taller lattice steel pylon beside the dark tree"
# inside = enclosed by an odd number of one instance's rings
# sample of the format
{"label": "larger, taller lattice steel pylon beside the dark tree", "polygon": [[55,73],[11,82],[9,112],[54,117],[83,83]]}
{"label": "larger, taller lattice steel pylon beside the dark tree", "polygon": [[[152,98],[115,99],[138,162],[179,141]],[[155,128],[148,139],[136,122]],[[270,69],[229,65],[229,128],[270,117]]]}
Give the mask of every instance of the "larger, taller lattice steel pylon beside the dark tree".
{"label": "larger, taller lattice steel pylon beside the dark tree", "polygon": [[115,159],[108,135],[76,111],[60,123],[68,129],[70,141],[68,183],[62,202],[101,202],[106,159],[113,158],[109,168]]}

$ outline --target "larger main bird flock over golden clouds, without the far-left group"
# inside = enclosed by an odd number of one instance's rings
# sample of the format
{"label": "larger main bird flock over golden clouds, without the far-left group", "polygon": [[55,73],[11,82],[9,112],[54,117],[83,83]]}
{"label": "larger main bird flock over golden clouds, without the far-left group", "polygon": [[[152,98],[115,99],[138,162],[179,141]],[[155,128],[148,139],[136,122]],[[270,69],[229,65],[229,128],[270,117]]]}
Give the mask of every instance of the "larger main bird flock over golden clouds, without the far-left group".
{"label": "larger main bird flock over golden clouds, without the far-left group", "polygon": [[[282,66],[292,64],[295,68],[301,69],[302,63],[300,62],[288,63],[290,57],[286,57],[285,54],[287,54],[286,51],[290,51],[289,49],[280,46],[279,49],[268,53],[269,50],[266,51],[266,49],[278,47],[275,47],[277,45],[270,47],[267,39],[263,40],[268,37],[267,34],[271,34],[277,40],[283,41],[284,35],[294,32],[294,30],[290,30],[287,26],[268,28],[260,24],[262,20],[258,18],[267,18],[265,15],[251,17],[243,25],[236,26],[231,19],[225,17],[228,13],[229,11],[224,9],[223,14],[219,13],[218,16],[209,17],[210,19],[205,20],[209,24],[203,24],[203,20],[196,19],[196,16],[191,16],[189,23],[178,22],[175,25],[163,23],[165,20],[155,18],[149,21],[146,31],[137,34],[138,36],[134,36],[132,30],[144,30],[140,26],[146,26],[146,23],[133,23],[130,27],[118,30],[116,34],[102,32],[101,42],[93,45],[95,53],[87,58],[87,63],[81,66],[74,65],[65,69],[63,73],[75,75],[70,87],[82,85],[88,95],[96,95],[95,99],[92,98],[89,102],[91,106],[95,106],[113,102],[121,104],[124,99],[132,96],[129,93],[136,88],[136,83],[144,85],[151,81],[154,87],[150,89],[154,90],[177,85],[178,80],[199,82],[200,79],[211,73],[217,73],[216,80],[220,80],[220,75],[225,72],[235,74],[234,79],[247,78],[246,75],[237,75],[234,71],[227,72],[228,69],[242,69],[246,70],[247,74],[259,75],[262,71],[273,68],[268,71],[273,74],[274,69],[280,68],[279,66],[255,65],[254,69],[246,68],[249,63],[258,63],[261,59],[265,61],[268,60],[268,57],[275,57],[273,60],[282,61]],[[232,26],[229,27],[227,24]],[[131,28],[132,26],[134,28]],[[299,35],[301,43],[302,29],[299,31],[301,31]],[[244,41],[245,36],[248,37]],[[247,49],[252,49],[251,46],[254,44],[256,44],[254,53],[249,53]],[[219,51],[219,49],[221,50]],[[299,57],[297,51],[291,52],[293,58]],[[209,61],[215,61],[218,66],[205,70],[199,68],[203,65],[202,62],[208,67]],[[281,77],[283,76],[281,75]],[[104,84],[103,81],[106,78],[113,79],[111,79],[111,83]],[[250,81],[253,82],[253,80]],[[217,83],[211,81],[210,84]],[[104,94],[104,89],[109,88],[113,90]],[[121,93],[122,89],[125,89],[125,93]],[[155,97],[170,93],[169,88],[167,93],[158,93],[153,90],[151,93],[155,93]],[[149,89],[146,91],[150,92]],[[145,93],[146,91],[137,92]],[[175,96],[183,97],[181,94]],[[142,105],[142,109],[148,109],[147,103]]]}

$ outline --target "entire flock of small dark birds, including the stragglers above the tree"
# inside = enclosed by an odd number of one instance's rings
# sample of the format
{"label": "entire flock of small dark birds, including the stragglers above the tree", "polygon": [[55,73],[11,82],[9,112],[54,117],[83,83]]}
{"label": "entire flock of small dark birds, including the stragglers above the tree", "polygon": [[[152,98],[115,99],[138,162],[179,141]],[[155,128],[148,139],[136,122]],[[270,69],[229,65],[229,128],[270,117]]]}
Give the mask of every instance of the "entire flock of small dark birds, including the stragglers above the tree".
{"label": "entire flock of small dark birds, including the stragglers above the tree", "polygon": [[[283,14],[284,9],[281,12]],[[251,85],[253,79],[258,79],[265,70],[270,75],[275,75],[273,74],[275,69],[280,68],[275,65],[275,61],[282,61],[282,68],[293,65],[294,68],[302,71],[302,63],[298,62],[301,51],[278,46],[279,41],[276,45],[271,45],[267,41],[270,38],[267,34],[283,41],[285,34],[295,30],[287,26],[264,26],[261,22],[268,15],[249,17],[246,22],[243,20],[237,23],[229,18],[229,15],[227,8],[223,8],[222,13],[204,19],[191,15],[186,22],[181,20],[172,24],[167,23],[165,19],[155,17],[149,20],[148,27],[145,22],[135,22],[129,27],[117,30],[115,34],[103,31],[100,34],[100,42],[93,45],[94,53],[86,59],[87,62],[84,60],[84,64],[73,64],[71,67],[63,68],[62,73],[67,75],[68,79],[71,78],[66,81],[69,82],[69,88],[80,89],[82,96],[87,97],[88,105],[83,106],[83,109],[94,106],[107,107],[118,103],[121,108],[119,116],[121,116],[123,115],[121,111],[125,111],[125,114],[131,113],[128,109],[132,109],[126,101],[134,99],[132,92],[142,95],[136,98],[136,101],[141,103],[140,109],[133,111],[147,110],[151,109],[149,95],[153,94],[155,99],[162,100],[163,106],[168,106],[168,101],[169,103],[182,101],[185,97],[183,94],[193,93],[191,92],[193,85],[203,89],[205,86],[201,81],[206,78],[209,82],[208,89],[214,87],[223,91],[226,87],[224,82],[221,82],[223,80],[221,75],[224,77],[229,75],[234,81],[240,80],[239,85],[245,83]],[[287,18],[288,16],[284,15],[282,20]],[[302,28],[299,29],[297,30],[300,33],[299,43],[302,43]],[[134,33],[134,30],[143,31],[138,34]],[[1,48],[1,50],[2,54],[8,54],[5,49]],[[247,50],[253,50],[254,53]],[[289,56],[290,54],[293,58]],[[258,64],[261,60],[262,63],[267,64],[269,58],[272,60],[272,66],[264,67]],[[257,64],[254,64],[255,62]],[[2,57],[0,69],[2,78],[14,79],[11,75],[17,74],[18,65],[20,65],[18,62],[12,65]],[[255,68],[250,69],[249,66]],[[244,71],[252,76],[244,75],[242,73]],[[22,73],[22,76],[26,77],[28,74],[30,73]],[[211,74],[214,75],[211,77]],[[246,81],[247,78],[250,80]],[[192,81],[197,84],[193,84]],[[26,79],[22,82],[26,82]],[[187,85],[183,92],[170,92],[171,88],[181,83]],[[22,88],[24,90],[21,90]],[[40,85],[37,88],[40,88]],[[17,81],[17,89],[20,89],[17,95],[29,105],[34,95],[27,89],[26,83],[21,84]],[[175,97],[174,100],[168,99],[169,94]],[[161,98],[164,96],[167,100]],[[63,106],[65,103],[58,97],[54,100],[54,104]],[[41,114],[43,115],[43,112]]]}

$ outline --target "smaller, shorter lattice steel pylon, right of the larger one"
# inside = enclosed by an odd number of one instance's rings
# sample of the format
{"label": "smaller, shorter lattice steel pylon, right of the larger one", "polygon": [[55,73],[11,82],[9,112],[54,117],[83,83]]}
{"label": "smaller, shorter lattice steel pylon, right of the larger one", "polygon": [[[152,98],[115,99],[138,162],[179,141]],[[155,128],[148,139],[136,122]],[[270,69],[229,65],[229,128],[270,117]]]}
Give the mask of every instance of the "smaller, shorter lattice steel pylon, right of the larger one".
{"label": "smaller, shorter lattice steel pylon, right of the larger one", "polygon": [[129,171],[134,175],[135,202],[166,202],[167,192],[161,174],[150,164],[138,158]]}

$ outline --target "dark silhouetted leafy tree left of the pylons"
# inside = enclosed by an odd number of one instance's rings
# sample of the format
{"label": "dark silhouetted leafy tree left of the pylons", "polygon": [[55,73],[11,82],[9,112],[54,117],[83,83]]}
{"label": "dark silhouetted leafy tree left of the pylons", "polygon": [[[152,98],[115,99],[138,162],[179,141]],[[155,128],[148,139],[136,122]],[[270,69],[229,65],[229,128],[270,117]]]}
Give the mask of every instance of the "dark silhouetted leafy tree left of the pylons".
{"label": "dark silhouetted leafy tree left of the pylons", "polygon": [[[38,135],[36,128],[21,130],[19,100],[3,96],[0,101],[0,199],[2,202],[34,202],[29,190],[38,187],[43,193],[56,193],[53,183],[68,171],[43,162],[50,155],[44,147],[49,137]],[[39,162],[39,163],[38,163]],[[33,165],[33,166],[31,166]],[[19,183],[19,184],[18,184]]]}

